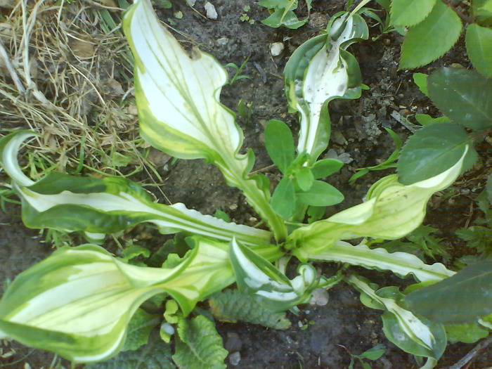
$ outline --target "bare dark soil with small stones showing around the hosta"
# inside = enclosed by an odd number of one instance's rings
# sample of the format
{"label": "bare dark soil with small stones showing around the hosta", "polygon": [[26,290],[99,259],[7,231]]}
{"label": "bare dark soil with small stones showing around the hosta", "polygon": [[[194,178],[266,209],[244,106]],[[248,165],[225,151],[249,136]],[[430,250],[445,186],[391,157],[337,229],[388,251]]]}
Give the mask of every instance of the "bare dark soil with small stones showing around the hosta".
{"label": "bare dark soil with small stones showing around the hosta", "polygon": [[[283,93],[283,67],[290,54],[297,46],[307,39],[319,34],[325,27],[330,15],[344,8],[342,1],[313,0],[309,23],[299,30],[285,28],[273,29],[261,24],[266,18],[264,8],[251,0],[212,0],[219,18],[209,20],[203,16],[203,2],[198,1],[193,11],[183,1],[172,1],[173,8],[158,11],[160,18],[169,18],[176,22],[173,27],[182,34],[176,37],[185,44],[195,44],[203,51],[211,53],[222,65],[235,63],[241,65],[247,58],[242,75],[249,79],[240,79],[232,86],[224,86],[221,101],[232,110],[236,110],[242,100],[251,104],[252,116],[239,119],[238,123],[245,131],[245,148],[252,148],[257,157],[254,170],[264,171],[275,183],[280,179],[279,173],[269,169],[271,161],[266,155],[262,143],[264,125],[269,119],[281,119],[297,132],[297,116],[287,113],[287,104]],[[305,4],[300,1],[299,18],[306,15]],[[245,13],[244,7],[254,24],[241,21]],[[181,11],[183,18],[174,18],[174,13]],[[200,14],[199,14],[200,13]],[[375,25],[370,21],[370,25]],[[370,37],[378,34],[377,27],[370,28]],[[375,165],[384,161],[394,150],[391,138],[383,127],[396,131],[402,139],[410,131],[392,115],[397,112],[403,116],[415,113],[435,114],[432,103],[417,89],[412,74],[415,71],[398,71],[399,48],[402,38],[396,32],[385,34],[377,41],[363,41],[351,46],[356,56],[363,83],[369,86],[363,96],[356,101],[335,101],[330,104],[332,119],[332,143],[330,148],[337,155],[342,155],[347,164],[339,174],[330,177],[330,183],[337,187],[345,196],[342,204],[328,209],[327,215],[356,205],[362,201],[369,186],[385,172],[371,172],[349,185],[348,179],[354,169]],[[273,57],[270,47],[273,42],[282,42],[285,49],[280,56]],[[462,40],[460,40],[462,43]],[[423,67],[421,72],[430,72],[440,65],[460,63],[469,67],[458,45],[446,58]],[[229,69],[233,72],[232,69]],[[0,126],[1,127],[1,126]],[[4,126],[7,127],[7,126]],[[481,152],[481,167],[486,170],[490,166],[486,148]],[[165,162],[165,155],[153,153],[154,162]],[[254,224],[258,216],[245,203],[240,192],[226,186],[218,170],[201,161],[177,160],[176,163],[162,164],[156,168],[164,179],[162,191],[170,202],[183,202],[188,207],[200,212],[214,214],[216,209],[226,212],[233,221]],[[453,231],[465,226],[470,216],[470,204],[477,195],[477,181],[473,171],[458,181],[458,195],[453,202],[448,200],[434,201],[429,206],[429,214],[425,224],[440,229],[439,237],[449,246],[454,257],[460,256],[462,245],[456,240]],[[138,174],[138,181],[144,181],[143,174]],[[7,181],[0,172],[0,182]],[[152,190],[157,198],[164,200],[161,193]],[[443,215],[446,216],[443,216]],[[6,212],[0,212],[0,281],[14,278],[20,271],[40,261],[51,253],[51,245],[41,242],[44,238],[37,230],[29,230],[22,225],[18,205],[8,205]],[[143,244],[156,249],[162,245],[163,238],[149,231],[152,238],[142,238]],[[319,265],[328,276],[335,273],[333,265]],[[403,285],[390,273],[375,273],[360,270],[373,282],[380,285]],[[349,350],[353,354],[377,344],[384,344],[386,351],[377,361],[371,363],[373,368],[418,368],[413,356],[394,347],[382,334],[380,315],[382,312],[366,308],[359,302],[358,293],[349,285],[340,283],[330,290],[330,300],[325,306],[302,306],[301,316],[288,317],[292,327],[287,330],[271,330],[257,325],[242,323],[218,323],[217,329],[224,342],[235,339],[240,342],[240,361],[233,365],[228,358],[228,368],[347,368],[350,362]],[[307,329],[302,328],[311,321]],[[299,324],[300,323],[300,324]],[[231,338],[232,337],[232,338]],[[237,344],[237,342],[236,342]],[[448,368],[465,356],[475,344],[452,344],[448,346],[437,368]],[[31,368],[50,367],[52,354],[39,350],[27,349],[18,344],[8,344],[7,352],[15,348],[15,354],[8,357],[0,355],[0,368],[20,368],[29,363]],[[237,356],[236,356],[237,358]],[[492,365],[492,353],[482,351],[476,356],[470,368],[488,368]],[[355,368],[361,368],[356,363]]]}

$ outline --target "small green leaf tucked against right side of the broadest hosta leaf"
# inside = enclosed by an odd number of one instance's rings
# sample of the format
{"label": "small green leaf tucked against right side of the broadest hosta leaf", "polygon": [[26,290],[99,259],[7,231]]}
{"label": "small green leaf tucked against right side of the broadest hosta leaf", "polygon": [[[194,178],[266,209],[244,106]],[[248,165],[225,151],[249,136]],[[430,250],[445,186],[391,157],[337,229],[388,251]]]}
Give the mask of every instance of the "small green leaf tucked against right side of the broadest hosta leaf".
{"label": "small green leaf tucked against right side of the broadest hosta leaf", "polygon": [[137,309],[128,324],[127,339],[122,351],[136,350],[147,344],[148,336],[159,323],[159,317],[143,309]]}

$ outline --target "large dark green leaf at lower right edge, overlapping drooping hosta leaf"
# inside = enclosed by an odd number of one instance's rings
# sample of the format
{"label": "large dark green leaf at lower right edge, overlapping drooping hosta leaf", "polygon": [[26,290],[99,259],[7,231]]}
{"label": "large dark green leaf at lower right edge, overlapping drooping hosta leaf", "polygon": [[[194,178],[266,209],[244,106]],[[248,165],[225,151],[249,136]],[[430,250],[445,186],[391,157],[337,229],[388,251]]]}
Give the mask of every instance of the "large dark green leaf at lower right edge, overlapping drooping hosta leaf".
{"label": "large dark green leaf at lower right edge, overlapping drooping hosta leaf", "polygon": [[412,292],[406,302],[431,321],[474,323],[492,313],[492,259],[466,266],[450,278]]}

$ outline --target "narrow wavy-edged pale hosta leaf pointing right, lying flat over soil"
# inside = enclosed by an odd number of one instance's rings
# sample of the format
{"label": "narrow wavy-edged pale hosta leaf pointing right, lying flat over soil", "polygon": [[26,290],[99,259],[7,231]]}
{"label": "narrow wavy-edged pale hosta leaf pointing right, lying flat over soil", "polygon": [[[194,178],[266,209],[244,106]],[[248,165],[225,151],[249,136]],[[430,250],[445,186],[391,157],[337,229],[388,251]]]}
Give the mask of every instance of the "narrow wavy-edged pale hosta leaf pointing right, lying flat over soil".
{"label": "narrow wavy-edged pale hosta leaf pointing right, lying flat over soil", "polygon": [[425,264],[413,254],[407,252],[389,253],[383,248],[370,249],[366,245],[351,245],[338,241],[320,254],[307,257],[309,260],[335,261],[363,266],[377,271],[392,271],[401,278],[413,274],[420,281],[439,281],[451,277],[455,272],[450,271],[441,263]]}

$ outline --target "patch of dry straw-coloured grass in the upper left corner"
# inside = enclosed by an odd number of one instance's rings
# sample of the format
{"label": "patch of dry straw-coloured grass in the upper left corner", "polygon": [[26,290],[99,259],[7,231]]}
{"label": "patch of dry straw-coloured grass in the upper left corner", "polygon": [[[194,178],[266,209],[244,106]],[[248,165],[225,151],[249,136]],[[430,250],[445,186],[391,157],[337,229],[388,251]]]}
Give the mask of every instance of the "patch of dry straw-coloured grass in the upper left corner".
{"label": "patch of dry straw-coloured grass in the upper left corner", "polygon": [[108,1],[59,3],[21,0],[3,9],[1,132],[24,127],[41,134],[30,147],[38,175],[150,171],[131,94],[131,53],[118,26],[121,9]]}

